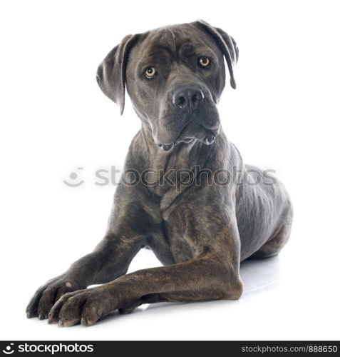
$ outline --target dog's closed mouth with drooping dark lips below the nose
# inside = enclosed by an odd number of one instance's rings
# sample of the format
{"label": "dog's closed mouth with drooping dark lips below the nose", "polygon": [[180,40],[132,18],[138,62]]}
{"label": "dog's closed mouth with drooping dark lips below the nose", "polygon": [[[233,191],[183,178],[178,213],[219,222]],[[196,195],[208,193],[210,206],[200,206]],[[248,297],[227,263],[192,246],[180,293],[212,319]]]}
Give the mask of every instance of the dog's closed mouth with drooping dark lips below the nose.
{"label": "dog's closed mouth with drooping dark lips below the nose", "polygon": [[192,124],[192,121],[187,123],[179,134],[177,134],[175,141],[167,144],[158,144],[163,151],[172,150],[177,144],[191,144],[193,141],[200,141],[202,144],[214,144],[216,136],[219,134],[220,127],[217,129],[206,129],[200,124]]}

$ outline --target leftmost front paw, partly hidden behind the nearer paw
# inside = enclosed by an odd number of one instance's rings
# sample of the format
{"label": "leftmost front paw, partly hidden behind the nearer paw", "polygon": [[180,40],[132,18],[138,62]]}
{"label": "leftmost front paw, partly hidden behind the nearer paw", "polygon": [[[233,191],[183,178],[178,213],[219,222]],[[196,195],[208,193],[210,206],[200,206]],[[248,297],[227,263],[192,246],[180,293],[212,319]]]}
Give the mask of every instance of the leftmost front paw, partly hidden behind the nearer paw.
{"label": "leftmost front paw, partly hidden behind the nearer paw", "polygon": [[51,279],[38,288],[33,298],[31,298],[26,308],[27,317],[38,317],[41,320],[48,318],[48,313],[51,311],[52,306],[63,294],[79,290],[80,288],[83,288],[83,286],[79,286],[78,283],[71,281],[65,276]]}

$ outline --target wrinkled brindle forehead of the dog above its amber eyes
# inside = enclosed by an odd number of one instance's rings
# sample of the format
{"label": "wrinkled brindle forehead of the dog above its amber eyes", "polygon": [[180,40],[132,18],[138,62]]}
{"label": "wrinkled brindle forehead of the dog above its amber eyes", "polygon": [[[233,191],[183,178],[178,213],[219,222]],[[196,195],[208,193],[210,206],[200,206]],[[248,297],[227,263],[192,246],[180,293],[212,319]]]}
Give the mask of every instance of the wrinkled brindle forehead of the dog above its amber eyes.
{"label": "wrinkled brindle forehead of the dog above its amber eyes", "polygon": [[[192,24],[165,26],[143,36],[136,51],[143,62],[189,58],[196,54],[212,56],[220,51],[210,36]],[[222,54],[220,54],[222,56]]]}

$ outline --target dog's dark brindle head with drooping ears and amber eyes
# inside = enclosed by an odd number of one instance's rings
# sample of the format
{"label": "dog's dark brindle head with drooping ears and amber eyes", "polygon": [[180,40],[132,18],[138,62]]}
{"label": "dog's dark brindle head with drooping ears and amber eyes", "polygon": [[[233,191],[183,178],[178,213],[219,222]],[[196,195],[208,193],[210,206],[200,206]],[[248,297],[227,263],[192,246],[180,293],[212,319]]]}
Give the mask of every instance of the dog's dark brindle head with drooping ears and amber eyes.
{"label": "dog's dark brindle head with drooping ears and amber eyes", "polygon": [[235,40],[205,21],[129,35],[98,67],[97,81],[123,114],[125,84],[133,107],[155,144],[169,151],[180,142],[209,145],[220,130],[217,102],[238,58]]}

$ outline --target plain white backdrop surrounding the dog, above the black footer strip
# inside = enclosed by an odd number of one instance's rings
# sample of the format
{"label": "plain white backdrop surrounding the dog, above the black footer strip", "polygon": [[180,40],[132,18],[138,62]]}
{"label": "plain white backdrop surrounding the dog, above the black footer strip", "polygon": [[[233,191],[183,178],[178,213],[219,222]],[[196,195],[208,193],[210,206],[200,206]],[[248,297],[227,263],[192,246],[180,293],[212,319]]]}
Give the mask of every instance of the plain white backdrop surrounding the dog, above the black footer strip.
{"label": "plain white backdrop surrounding the dog, above the black footer strip", "polygon": [[[338,1],[1,1],[1,339],[339,339]],[[26,319],[36,288],[103,237],[140,122],[96,84],[126,34],[205,19],[235,37],[220,102],[244,161],[274,169],[295,209],[277,257],[242,264],[239,301],[143,306],[91,328]],[[229,81],[229,80],[228,80]],[[63,179],[83,167],[78,188]],[[159,266],[141,251],[130,271]]]}

